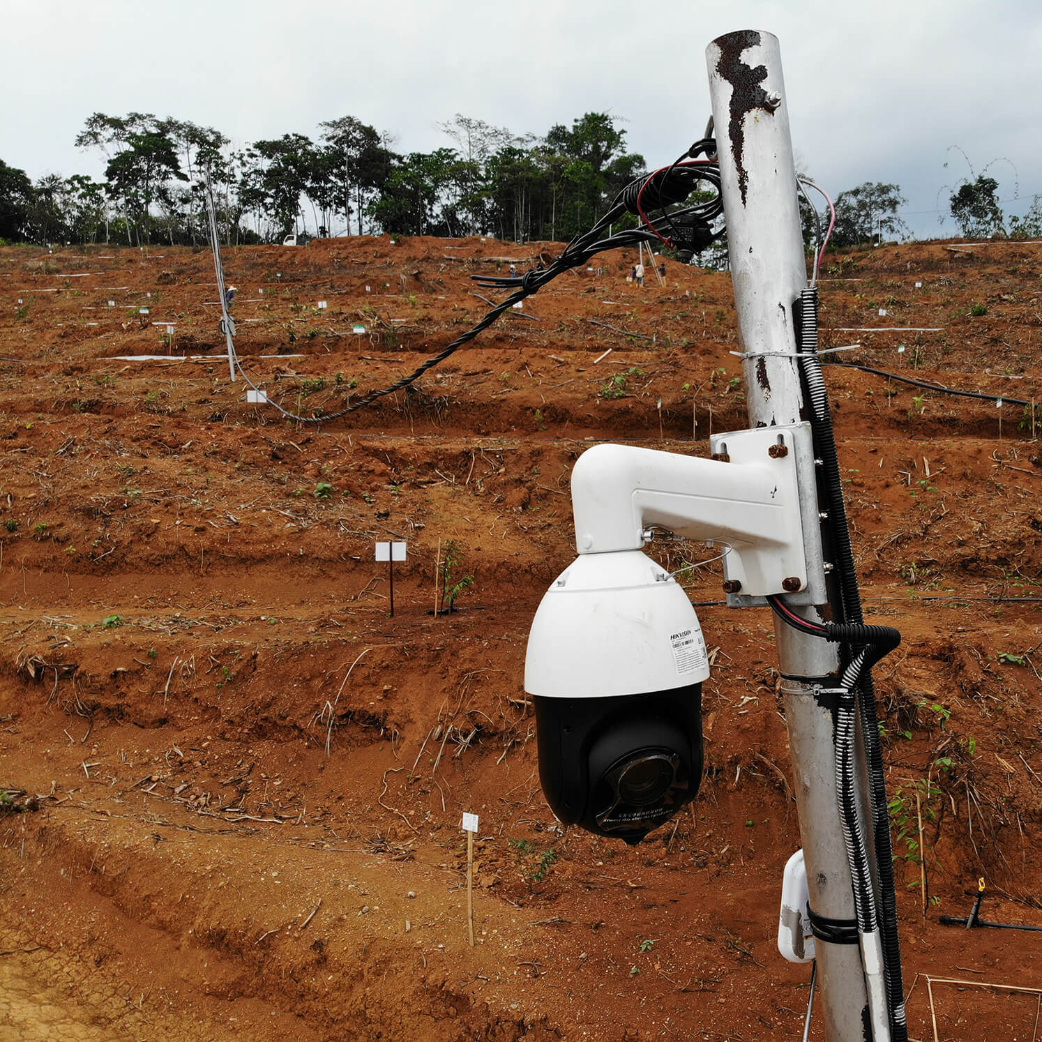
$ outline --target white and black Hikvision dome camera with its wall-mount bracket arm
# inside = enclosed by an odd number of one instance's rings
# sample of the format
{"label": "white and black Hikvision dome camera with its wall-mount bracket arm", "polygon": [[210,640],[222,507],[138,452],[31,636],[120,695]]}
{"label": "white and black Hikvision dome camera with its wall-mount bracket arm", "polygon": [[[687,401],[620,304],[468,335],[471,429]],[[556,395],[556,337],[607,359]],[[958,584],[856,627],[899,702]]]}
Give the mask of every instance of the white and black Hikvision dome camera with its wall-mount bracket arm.
{"label": "white and black Hikvision dome camera with its wall-mount bracket arm", "polygon": [[744,596],[804,590],[803,426],[727,435],[726,460],[598,445],[576,462],[579,556],[536,613],[524,681],[562,821],[636,843],[697,794],[705,642],[687,594],[641,548],[659,525],[724,543]]}

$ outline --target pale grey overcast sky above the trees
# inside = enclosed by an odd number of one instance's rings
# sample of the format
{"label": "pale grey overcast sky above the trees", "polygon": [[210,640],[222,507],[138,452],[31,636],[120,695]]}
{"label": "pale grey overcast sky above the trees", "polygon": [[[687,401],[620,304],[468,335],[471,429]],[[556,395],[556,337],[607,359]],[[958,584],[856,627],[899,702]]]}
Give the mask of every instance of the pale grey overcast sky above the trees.
{"label": "pale grey overcast sky above the trees", "polygon": [[[73,140],[95,111],[173,116],[237,144],[355,116],[398,151],[452,143],[462,113],[545,133],[623,118],[652,167],[700,137],[705,45],[782,45],[793,141],[834,196],[897,183],[919,234],[952,233],[950,185],[989,164],[1008,213],[1042,193],[1038,0],[7,0],[0,159],[101,178]],[[993,162],[998,160],[998,162]],[[947,164],[947,167],[945,167]],[[1015,168],[1015,169],[1014,169]],[[946,189],[947,187],[947,189]],[[946,190],[945,190],[946,189]]]}

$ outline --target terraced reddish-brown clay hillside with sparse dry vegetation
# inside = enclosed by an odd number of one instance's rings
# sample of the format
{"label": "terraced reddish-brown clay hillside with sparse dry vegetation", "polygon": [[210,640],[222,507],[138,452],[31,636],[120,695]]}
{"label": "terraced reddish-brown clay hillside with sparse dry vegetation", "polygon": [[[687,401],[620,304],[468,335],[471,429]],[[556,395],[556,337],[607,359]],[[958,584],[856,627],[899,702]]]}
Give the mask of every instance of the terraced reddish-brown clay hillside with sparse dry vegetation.
{"label": "terraced reddish-brown clay hillside with sparse dry vegetation", "polygon": [[[333,412],[476,322],[470,275],[557,248],[229,249],[243,366]],[[822,346],[1042,400],[1040,250],[836,257]],[[746,422],[729,276],[667,262],[641,289],[634,262],[315,426],[229,381],[208,251],[0,250],[0,1038],[800,1037],[810,969],[774,943],[799,836],[772,623],[720,604],[719,564],[686,580],[716,649],[691,813],[629,848],[562,828],[539,788],[525,639],[574,555],[574,460],[704,455]],[[863,326],[940,329],[842,331]],[[120,357],[145,354],[190,357]],[[867,614],[904,635],[876,672],[911,1031],[933,1038],[922,974],[1038,985],[1039,935],[938,916],[984,875],[988,918],[1042,925],[1042,458],[1029,408],[826,375]],[[436,617],[450,547],[473,584]],[[1032,1037],[1036,996],[933,999],[939,1038]]]}

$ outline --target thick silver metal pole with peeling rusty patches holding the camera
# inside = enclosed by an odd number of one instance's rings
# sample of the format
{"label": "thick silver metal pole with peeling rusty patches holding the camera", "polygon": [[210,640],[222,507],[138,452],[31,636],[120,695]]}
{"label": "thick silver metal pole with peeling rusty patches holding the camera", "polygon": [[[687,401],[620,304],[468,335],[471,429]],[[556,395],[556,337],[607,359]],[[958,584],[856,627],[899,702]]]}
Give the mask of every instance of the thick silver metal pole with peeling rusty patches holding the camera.
{"label": "thick silver metal pole with peeling rusty patches holding the camera", "polygon": [[[731,32],[710,44],[705,57],[749,422],[798,423],[808,415],[793,357],[793,303],[807,286],[807,263],[778,41],[769,32]],[[823,617],[818,609],[810,613],[816,621]],[[850,920],[854,898],[837,801],[833,715],[820,694],[835,688],[839,656],[835,645],[784,623],[775,621],[774,631],[811,907]],[[858,945],[818,940],[816,950],[825,1037],[872,1039]],[[882,1040],[875,1036],[875,1042]]]}

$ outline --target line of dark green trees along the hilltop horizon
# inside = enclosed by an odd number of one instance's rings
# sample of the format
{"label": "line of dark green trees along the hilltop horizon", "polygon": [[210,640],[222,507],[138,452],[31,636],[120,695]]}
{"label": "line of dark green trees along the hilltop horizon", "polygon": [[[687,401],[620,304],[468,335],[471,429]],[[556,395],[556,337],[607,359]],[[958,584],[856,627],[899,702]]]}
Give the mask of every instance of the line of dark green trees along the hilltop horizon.
{"label": "line of dark green trees along the hilltop horizon", "polygon": [[[205,242],[205,174],[229,243],[280,242],[290,233],[387,232],[499,239],[570,239],[616,193],[646,173],[619,117],[587,113],[542,137],[456,115],[440,124],[451,145],[399,153],[391,134],[353,116],[235,148],[213,127],[150,113],[95,113],[78,148],[104,162],[104,179],[48,174],[33,182],[0,159],[0,240],[7,242]],[[1036,205],[1008,228],[992,178],[951,195],[966,235],[1042,232]],[[866,182],[836,200],[836,246],[907,238],[896,184]],[[821,229],[803,204],[809,244]],[[1039,225],[1039,227],[1036,227]]]}

